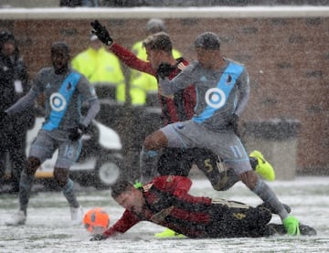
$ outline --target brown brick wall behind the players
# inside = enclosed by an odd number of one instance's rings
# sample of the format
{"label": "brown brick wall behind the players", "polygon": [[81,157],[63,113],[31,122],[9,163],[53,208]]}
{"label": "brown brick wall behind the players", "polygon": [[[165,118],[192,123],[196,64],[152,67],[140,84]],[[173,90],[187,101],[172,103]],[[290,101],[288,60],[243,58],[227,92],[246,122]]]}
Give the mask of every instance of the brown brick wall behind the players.
{"label": "brown brick wall behind the players", "polygon": [[[147,19],[101,20],[126,47],[144,37]],[[218,33],[222,53],[246,64],[251,90],[241,121],[301,121],[297,171],[329,174],[329,18],[164,19],[175,47],[193,59],[192,43],[206,30]],[[16,34],[33,77],[49,64],[48,48],[66,40],[72,55],[86,47],[90,20],[1,20]]]}

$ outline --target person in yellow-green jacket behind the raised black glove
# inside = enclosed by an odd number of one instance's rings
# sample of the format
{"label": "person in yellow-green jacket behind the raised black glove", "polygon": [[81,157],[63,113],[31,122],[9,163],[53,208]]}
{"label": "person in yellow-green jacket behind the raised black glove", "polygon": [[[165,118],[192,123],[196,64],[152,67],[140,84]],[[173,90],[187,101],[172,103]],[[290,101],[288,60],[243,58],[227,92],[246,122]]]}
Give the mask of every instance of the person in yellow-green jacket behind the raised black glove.
{"label": "person in yellow-green jacket behind the raised black glove", "polygon": [[[72,59],[71,65],[83,74],[98,92],[106,98],[120,101],[119,87],[125,86],[120,60],[103,47],[95,35],[90,36],[90,45]],[[121,100],[122,101],[122,100]]]}

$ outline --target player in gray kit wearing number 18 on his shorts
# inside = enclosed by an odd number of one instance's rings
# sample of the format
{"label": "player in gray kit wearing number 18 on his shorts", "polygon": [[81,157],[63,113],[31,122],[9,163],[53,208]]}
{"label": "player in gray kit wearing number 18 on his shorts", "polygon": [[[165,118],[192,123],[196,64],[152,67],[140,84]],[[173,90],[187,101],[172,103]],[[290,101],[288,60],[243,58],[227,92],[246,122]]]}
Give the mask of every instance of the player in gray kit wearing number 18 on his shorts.
{"label": "player in gray kit wearing number 18 on his shorts", "polygon": [[[73,192],[69,167],[80,155],[80,137],[100,111],[100,102],[89,81],[69,68],[69,59],[69,46],[65,42],[55,42],[51,47],[53,68],[41,69],[27,95],[2,112],[4,116],[13,117],[16,112],[32,107],[39,95],[45,96],[46,120],[31,145],[26,167],[20,177],[19,211],[12,220],[6,222],[7,225],[26,223],[34,174],[40,164],[51,158],[57,149],[54,180],[69,202],[73,224],[80,224],[82,221],[82,208]],[[84,118],[81,117],[83,101],[89,104]]]}

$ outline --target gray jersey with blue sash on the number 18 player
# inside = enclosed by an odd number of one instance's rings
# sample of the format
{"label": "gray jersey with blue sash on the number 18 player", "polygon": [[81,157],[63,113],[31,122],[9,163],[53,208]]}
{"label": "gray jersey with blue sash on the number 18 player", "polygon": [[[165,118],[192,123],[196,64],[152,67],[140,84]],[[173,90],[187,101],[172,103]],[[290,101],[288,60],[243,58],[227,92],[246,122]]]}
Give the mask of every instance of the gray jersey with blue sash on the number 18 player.
{"label": "gray jersey with blue sash on the number 18 player", "polygon": [[37,73],[32,91],[45,94],[46,131],[68,130],[79,125],[83,101],[97,100],[89,81],[70,69],[63,75],[55,74],[53,68],[44,68]]}

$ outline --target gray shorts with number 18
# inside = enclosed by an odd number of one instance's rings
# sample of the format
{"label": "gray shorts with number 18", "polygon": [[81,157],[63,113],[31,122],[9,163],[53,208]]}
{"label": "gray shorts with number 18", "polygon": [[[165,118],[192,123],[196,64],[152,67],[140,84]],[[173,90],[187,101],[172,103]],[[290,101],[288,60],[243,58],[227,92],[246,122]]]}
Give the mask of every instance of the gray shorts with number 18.
{"label": "gray shorts with number 18", "polygon": [[55,167],[69,169],[77,161],[81,152],[81,141],[69,141],[69,133],[54,130],[39,130],[37,138],[32,142],[28,156],[37,157],[41,163],[50,159],[58,149]]}

